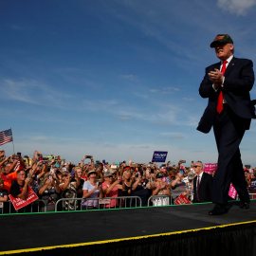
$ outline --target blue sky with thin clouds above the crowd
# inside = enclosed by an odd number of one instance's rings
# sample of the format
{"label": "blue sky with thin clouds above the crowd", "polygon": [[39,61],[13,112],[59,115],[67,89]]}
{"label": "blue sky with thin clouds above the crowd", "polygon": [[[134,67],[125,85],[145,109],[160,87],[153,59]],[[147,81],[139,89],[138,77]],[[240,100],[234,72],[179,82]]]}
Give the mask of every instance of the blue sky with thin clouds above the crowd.
{"label": "blue sky with thin clouds above the crowd", "polygon": [[[148,162],[159,150],[175,164],[214,163],[212,131],[196,131],[198,87],[218,62],[218,33],[256,63],[255,10],[255,0],[1,1],[0,130],[12,128],[23,155]],[[255,141],[254,120],[244,164],[256,166]]]}

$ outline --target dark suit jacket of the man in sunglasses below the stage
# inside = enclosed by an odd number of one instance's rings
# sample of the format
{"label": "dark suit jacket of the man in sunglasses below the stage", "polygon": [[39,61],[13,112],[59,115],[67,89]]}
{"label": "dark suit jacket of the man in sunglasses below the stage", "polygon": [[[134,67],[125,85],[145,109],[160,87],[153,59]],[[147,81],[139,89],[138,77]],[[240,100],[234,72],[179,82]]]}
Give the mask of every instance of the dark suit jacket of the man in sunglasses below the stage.
{"label": "dark suit jacket of the man in sunglasses below the stage", "polygon": [[[213,178],[210,174],[203,173],[201,182],[199,184],[199,199],[201,202],[211,202],[211,192],[212,192],[212,181]],[[197,176],[193,178],[193,199],[192,202],[197,202]]]}

